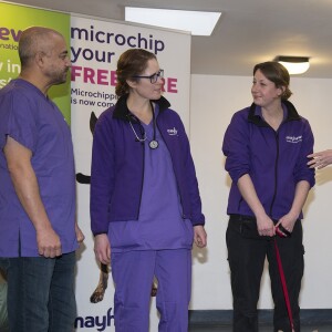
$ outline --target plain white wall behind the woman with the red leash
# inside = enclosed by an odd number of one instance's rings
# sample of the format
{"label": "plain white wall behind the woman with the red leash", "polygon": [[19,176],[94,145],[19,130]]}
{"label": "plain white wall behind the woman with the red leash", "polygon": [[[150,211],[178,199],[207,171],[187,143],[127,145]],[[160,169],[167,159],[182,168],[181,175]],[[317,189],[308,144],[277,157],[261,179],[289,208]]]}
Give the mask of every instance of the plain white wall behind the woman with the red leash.
{"label": "plain white wall behind the woman with the red leash", "polygon": [[[191,75],[190,142],[206,215],[208,247],[194,252],[191,309],[231,309],[226,215],[230,180],[221,154],[231,115],[251,104],[252,77]],[[332,148],[332,80],[291,79],[294,103],[315,136],[315,151]],[[332,308],[332,167],[317,172],[317,186],[304,207],[305,271],[301,308]],[[259,307],[271,309],[264,271]]]}

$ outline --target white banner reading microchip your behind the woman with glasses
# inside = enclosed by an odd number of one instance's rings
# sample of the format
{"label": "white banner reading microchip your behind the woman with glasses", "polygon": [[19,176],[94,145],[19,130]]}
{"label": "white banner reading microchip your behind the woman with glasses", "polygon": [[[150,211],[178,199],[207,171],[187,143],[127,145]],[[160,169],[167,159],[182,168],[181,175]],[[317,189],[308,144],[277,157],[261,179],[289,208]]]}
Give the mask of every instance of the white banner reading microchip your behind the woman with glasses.
{"label": "white banner reading microchip your behind the woman with glasses", "polygon": [[[89,181],[93,124],[104,110],[116,103],[117,59],[131,48],[146,49],[156,54],[160,69],[165,71],[164,96],[189,131],[190,34],[72,15],[72,135],[79,181],[77,219],[86,237],[77,255],[76,331],[115,331],[111,274],[104,299],[96,303],[90,301],[98,284],[101,270],[94,258],[90,230]],[[157,322],[153,298],[151,331],[157,331]]]}

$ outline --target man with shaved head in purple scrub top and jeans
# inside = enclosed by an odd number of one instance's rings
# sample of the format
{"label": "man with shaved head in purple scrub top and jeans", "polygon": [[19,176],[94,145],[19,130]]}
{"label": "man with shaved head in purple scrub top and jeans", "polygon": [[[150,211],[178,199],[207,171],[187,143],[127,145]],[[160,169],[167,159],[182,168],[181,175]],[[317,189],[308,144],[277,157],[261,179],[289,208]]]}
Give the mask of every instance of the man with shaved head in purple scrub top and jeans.
{"label": "man with shaved head in purple scrub top and jeans", "polygon": [[63,37],[32,27],[19,41],[21,74],[0,90],[0,268],[13,332],[71,332],[76,313],[71,132],[49,100],[71,66]]}

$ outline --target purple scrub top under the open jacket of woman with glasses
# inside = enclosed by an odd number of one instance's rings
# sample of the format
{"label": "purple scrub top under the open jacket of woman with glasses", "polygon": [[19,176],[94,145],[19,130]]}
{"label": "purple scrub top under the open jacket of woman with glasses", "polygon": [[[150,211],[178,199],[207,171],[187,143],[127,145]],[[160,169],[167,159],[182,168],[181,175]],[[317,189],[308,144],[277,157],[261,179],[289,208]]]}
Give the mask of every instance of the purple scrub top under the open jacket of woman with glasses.
{"label": "purple scrub top under the open jacket of woman with glasses", "polygon": [[153,122],[143,126],[147,139],[144,142],[145,168],[139,218],[110,222],[112,251],[191,249],[193,225],[189,219],[181,218],[169,152],[157,129],[159,146],[156,149],[149,148],[148,143],[154,135]]}

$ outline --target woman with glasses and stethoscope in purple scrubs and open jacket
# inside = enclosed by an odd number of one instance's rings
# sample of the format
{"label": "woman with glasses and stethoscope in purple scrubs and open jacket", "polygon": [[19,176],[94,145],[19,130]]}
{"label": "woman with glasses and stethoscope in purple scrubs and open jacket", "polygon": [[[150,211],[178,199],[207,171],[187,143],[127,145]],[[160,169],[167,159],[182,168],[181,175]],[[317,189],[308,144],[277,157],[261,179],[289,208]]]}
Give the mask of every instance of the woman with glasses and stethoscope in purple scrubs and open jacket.
{"label": "woman with glasses and stethoscope in purple scrubs and open jacket", "polygon": [[162,96],[155,54],[131,49],[117,62],[120,97],[93,137],[91,222],[96,259],[111,262],[116,332],[147,332],[158,281],[158,331],[188,330],[191,246],[206,246],[190,147]]}

